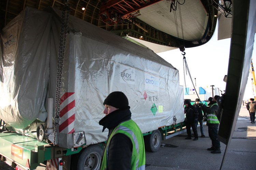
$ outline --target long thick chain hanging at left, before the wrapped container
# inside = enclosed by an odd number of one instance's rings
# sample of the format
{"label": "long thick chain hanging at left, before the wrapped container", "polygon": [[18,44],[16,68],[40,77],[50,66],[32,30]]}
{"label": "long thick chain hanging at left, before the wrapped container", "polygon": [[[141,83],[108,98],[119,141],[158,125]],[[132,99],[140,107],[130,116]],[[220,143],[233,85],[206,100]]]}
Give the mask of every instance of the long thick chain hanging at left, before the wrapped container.
{"label": "long thick chain hanging at left, before the wrapped container", "polygon": [[[66,15],[67,11],[67,15]],[[66,37],[68,33],[68,20],[69,20],[69,12],[70,8],[65,3],[64,9],[61,14],[61,27],[60,27],[60,42],[59,42],[59,55],[58,55],[58,70],[57,70],[57,80],[56,80],[56,99],[55,99],[55,117],[54,117],[54,139],[53,146],[55,146],[56,141],[56,131],[57,125],[60,124],[60,85],[61,85],[61,77],[62,77],[62,68],[64,62],[65,55],[65,47],[66,47]]]}

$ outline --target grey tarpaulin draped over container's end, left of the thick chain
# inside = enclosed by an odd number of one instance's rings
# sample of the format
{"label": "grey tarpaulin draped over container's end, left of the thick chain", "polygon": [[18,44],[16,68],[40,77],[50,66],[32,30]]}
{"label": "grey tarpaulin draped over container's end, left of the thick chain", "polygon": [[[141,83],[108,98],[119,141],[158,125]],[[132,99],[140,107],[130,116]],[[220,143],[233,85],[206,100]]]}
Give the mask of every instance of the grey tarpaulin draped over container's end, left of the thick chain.
{"label": "grey tarpaulin draped over container's end, left of the thick chain", "polygon": [[47,92],[51,14],[26,8],[1,30],[0,118],[26,128]]}

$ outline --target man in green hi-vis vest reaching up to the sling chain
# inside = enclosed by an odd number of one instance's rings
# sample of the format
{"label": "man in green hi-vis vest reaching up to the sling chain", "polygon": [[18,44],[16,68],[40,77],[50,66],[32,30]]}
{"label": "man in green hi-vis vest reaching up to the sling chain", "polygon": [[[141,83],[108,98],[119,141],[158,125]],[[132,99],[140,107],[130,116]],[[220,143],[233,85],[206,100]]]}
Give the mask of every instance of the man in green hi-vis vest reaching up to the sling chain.
{"label": "man in green hi-vis vest reaching up to the sling chain", "polygon": [[211,153],[221,153],[221,143],[218,139],[218,126],[219,121],[215,113],[218,110],[217,100],[220,96],[214,96],[211,101],[211,105],[209,107],[202,106],[202,110],[207,115],[207,125],[209,137],[212,140],[212,147],[207,150],[211,151]]}

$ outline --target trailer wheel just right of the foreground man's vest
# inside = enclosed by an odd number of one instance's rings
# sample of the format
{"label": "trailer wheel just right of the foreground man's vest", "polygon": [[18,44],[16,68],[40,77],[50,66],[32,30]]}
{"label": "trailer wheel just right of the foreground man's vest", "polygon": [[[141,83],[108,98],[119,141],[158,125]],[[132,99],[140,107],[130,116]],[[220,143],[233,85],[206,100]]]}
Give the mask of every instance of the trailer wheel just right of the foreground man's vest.
{"label": "trailer wheel just right of the foreground man's vest", "polygon": [[155,130],[152,134],[144,137],[145,148],[149,152],[156,152],[161,145],[161,133],[159,130]]}

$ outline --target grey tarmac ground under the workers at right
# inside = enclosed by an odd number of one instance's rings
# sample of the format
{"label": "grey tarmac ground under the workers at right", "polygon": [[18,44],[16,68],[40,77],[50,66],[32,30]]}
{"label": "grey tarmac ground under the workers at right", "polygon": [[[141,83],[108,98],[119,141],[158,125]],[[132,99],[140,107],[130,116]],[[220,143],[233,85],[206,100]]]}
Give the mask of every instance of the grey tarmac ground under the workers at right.
{"label": "grey tarmac ground under the workers at right", "polygon": [[[221,168],[226,145],[221,142],[221,154],[212,154],[208,126],[204,124],[204,135],[200,137],[200,127],[197,128],[199,140],[185,140],[186,132],[162,140],[157,152],[146,151],[146,170],[217,170]],[[193,133],[193,131],[192,131]],[[241,106],[236,128],[227,150],[222,170],[256,169],[256,123],[252,124],[250,115]]]}

